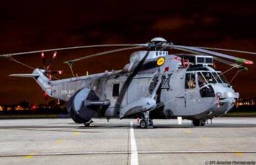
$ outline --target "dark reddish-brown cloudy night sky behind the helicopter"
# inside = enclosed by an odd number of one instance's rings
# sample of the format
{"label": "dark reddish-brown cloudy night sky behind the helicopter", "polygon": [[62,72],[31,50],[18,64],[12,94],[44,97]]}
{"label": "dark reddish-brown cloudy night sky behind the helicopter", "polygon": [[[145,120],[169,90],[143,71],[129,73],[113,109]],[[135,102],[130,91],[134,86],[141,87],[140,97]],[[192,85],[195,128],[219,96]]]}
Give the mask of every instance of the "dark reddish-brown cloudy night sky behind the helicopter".
{"label": "dark reddish-brown cloudy night sky behind the helicopter", "polygon": [[[154,37],[163,37],[176,45],[256,52],[254,1],[1,1],[0,18],[0,54],[146,43]],[[57,75],[60,79],[70,78],[71,71],[63,62],[116,48],[119,47],[58,51],[50,69],[64,70],[63,75]],[[95,74],[119,70],[128,63],[133,51],[76,62],[73,70],[79,76],[86,71]],[[45,52],[46,63],[53,53]],[[256,64],[256,55],[221,53],[247,58]],[[40,53],[13,58],[33,68],[43,68]],[[247,65],[248,72],[239,72],[232,82],[241,97],[256,96],[255,64]],[[217,68],[224,72],[231,67],[217,63]],[[5,58],[0,59],[0,69],[0,105],[23,100],[44,103],[44,93],[32,78],[8,76],[32,73],[32,69]],[[237,69],[232,69],[224,75],[230,81],[236,73]]]}

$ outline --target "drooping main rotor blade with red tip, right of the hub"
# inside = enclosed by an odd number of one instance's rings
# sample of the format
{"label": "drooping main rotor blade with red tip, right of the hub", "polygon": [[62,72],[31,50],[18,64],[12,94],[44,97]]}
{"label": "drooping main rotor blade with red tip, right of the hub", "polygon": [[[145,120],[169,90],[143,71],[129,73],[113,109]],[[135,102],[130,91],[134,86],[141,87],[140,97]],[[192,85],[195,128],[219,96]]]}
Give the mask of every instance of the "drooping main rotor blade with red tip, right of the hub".
{"label": "drooping main rotor blade with red tip, right of the hub", "polygon": [[181,45],[168,45],[167,47],[174,48],[176,50],[186,51],[186,52],[197,51],[197,52],[203,52],[203,53],[211,54],[213,56],[229,58],[229,59],[233,59],[234,61],[236,61],[239,64],[253,64],[252,61],[249,61],[247,59],[237,58],[237,57],[234,57],[234,56],[229,56],[227,54],[222,54],[222,53],[218,53],[218,52],[203,50],[201,48],[195,48],[195,47],[190,47],[190,46],[181,46]]}

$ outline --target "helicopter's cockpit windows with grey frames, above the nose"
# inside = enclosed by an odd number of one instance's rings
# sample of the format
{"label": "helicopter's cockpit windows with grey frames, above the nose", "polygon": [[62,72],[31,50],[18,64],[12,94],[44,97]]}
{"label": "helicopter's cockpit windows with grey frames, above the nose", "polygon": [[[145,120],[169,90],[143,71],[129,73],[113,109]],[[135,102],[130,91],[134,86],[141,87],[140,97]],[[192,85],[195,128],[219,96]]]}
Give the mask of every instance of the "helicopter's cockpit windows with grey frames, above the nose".
{"label": "helicopter's cockpit windows with grey frames, above the nose", "polygon": [[187,68],[185,75],[185,89],[200,89],[201,97],[215,97],[211,84],[226,83],[224,75],[211,67]]}

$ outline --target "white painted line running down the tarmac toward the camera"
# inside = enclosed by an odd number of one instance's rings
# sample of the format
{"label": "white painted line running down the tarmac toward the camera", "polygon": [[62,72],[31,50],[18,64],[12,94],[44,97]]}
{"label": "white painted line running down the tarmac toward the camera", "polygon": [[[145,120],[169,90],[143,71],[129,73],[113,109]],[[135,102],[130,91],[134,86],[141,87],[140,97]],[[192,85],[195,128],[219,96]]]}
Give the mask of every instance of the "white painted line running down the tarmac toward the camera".
{"label": "white painted line running down the tarmac toward the camera", "polygon": [[130,122],[130,150],[132,152],[132,155],[130,156],[130,164],[138,165],[138,151],[133,131],[133,122]]}

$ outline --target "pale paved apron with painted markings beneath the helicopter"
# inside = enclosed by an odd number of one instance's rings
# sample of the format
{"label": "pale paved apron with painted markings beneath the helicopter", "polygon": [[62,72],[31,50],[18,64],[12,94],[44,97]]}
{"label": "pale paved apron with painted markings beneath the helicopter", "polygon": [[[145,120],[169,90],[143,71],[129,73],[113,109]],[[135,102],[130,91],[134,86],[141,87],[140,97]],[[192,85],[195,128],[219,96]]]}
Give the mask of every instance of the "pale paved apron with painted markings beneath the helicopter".
{"label": "pale paved apron with painted markings beneath the helicopter", "polygon": [[[256,162],[256,118],[215,118],[205,127],[153,120],[0,120],[0,164],[242,164]],[[132,125],[132,126],[131,126]],[[253,162],[252,162],[253,161]]]}

